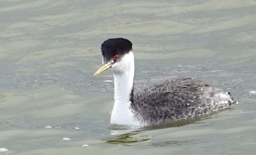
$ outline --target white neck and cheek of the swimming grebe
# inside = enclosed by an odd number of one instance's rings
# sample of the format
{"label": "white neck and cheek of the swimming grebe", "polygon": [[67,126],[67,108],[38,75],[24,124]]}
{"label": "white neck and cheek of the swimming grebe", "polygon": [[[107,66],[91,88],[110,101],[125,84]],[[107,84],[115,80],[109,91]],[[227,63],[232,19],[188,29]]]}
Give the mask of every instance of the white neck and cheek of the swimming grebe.
{"label": "white neck and cheek of the swimming grebe", "polygon": [[111,113],[110,124],[141,126],[134,117],[130,108],[130,94],[133,90],[134,80],[134,55],[129,52],[121,58],[121,61],[112,66],[114,71],[114,107]]}

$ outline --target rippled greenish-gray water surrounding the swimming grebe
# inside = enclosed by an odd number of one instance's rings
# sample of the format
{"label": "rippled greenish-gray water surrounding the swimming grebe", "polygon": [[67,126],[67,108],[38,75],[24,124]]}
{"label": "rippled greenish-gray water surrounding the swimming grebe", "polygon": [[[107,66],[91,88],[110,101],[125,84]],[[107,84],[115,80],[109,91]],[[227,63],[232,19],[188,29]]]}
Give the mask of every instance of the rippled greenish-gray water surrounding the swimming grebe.
{"label": "rippled greenish-gray water surrounding the swimming grebe", "polygon": [[[2,154],[255,154],[255,10],[255,0],[2,0]],[[113,131],[113,77],[93,73],[114,37],[133,43],[135,91],[191,77],[239,104],[169,128]]]}

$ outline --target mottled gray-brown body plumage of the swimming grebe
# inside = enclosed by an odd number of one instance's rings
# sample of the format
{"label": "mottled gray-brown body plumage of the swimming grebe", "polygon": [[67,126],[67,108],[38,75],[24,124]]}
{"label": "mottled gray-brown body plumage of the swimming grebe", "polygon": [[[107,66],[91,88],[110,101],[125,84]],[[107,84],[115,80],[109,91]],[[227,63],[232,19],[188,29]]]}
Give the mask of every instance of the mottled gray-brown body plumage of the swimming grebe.
{"label": "mottled gray-brown body plumage of the swimming grebe", "polygon": [[147,125],[198,118],[234,104],[230,93],[193,79],[166,80],[134,94],[131,108]]}

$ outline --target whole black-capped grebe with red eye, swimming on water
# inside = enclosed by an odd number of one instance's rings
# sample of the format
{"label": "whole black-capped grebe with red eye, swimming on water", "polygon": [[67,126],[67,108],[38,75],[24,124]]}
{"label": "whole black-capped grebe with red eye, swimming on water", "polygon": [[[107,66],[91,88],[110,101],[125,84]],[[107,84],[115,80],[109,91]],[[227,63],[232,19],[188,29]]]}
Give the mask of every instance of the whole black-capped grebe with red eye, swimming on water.
{"label": "whole black-capped grebe with red eye, swimming on water", "polygon": [[111,125],[147,127],[209,116],[237,103],[229,92],[192,78],[167,79],[134,93],[132,43],[107,39],[101,45],[103,66],[94,76],[112,70],[114,106]]}

